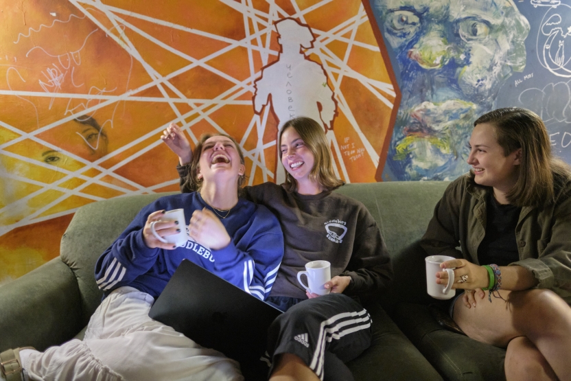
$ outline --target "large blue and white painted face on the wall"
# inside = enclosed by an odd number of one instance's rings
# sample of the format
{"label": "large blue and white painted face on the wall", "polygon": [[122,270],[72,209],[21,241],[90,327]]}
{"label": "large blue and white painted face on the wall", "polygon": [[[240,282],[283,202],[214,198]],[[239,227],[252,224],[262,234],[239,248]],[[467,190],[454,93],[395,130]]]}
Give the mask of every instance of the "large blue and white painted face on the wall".
{"label": "large blue and white painted face on the wall", "polygon": [[386,177],[456,178],[469,170],[474,120],[491,111],[505,80],[525,66],[529,24],[507,0],[372,3],[401,77]]}

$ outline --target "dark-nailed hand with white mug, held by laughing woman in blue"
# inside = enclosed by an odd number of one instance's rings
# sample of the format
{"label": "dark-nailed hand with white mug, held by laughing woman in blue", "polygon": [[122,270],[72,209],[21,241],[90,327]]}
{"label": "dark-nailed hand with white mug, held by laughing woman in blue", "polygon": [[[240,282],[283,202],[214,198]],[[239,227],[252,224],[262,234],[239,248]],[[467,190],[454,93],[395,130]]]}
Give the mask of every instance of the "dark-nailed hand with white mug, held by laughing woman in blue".
{"label": "dark-nailed hand with white mug, held by laughing woman in blue", "polygon": [[176,249],[187,241],[183,209],[150,213],[143,227],[143,241],[150,249]]}

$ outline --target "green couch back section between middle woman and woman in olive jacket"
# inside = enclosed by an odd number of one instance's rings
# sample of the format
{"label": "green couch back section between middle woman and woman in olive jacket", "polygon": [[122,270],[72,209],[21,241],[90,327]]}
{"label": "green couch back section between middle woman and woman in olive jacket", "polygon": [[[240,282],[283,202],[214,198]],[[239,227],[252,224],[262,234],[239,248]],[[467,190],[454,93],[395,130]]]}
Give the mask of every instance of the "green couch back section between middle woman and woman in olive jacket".
{"label": "green couch back section between middle woman and woman in olive jacket", "polygon": [[380,295],[389,312],[398,301],[434,301],[426,294],[426,254],[419,240],[449,184],[450,181],[387,181],[347,184],[336,191],[360,200],[381,229],[395,273],[391,288]]}

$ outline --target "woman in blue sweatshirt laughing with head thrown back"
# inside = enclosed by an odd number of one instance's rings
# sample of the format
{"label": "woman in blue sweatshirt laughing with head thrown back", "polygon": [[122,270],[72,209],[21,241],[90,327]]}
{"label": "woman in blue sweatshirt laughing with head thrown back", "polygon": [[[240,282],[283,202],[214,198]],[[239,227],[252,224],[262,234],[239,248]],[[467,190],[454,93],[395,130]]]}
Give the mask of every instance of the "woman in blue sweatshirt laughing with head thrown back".
{"label": "woman in blue sweatshirt laughing with head thrown back", "polygon": [[[44,352],[14,349],[19,379],[244,380],[234,360],[148,317],[183,259],[259,299],[270,293],[283,234],[266,207],[238,198],[245,170],[238,147],[226,135],[202,137],[191,165],[199,189],[159,198],[139,212],[97,260],[95,278],[104,299],[84,340]],[[179,208],[191,218],[187,242],[176,246],[164,238],[186,229],[185,221],[161,217]]]}

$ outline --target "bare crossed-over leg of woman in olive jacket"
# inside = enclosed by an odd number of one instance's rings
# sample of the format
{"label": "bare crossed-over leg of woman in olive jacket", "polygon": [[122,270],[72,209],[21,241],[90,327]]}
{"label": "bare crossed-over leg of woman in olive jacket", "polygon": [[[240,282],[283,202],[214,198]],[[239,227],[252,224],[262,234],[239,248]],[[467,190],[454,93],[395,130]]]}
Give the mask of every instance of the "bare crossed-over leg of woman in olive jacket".
{"label": "bare crossed-over leg of woman in olive jacket", "polygon": [[[496,347],[506,348],[520,336],[528,338],[560,380],[571,380],[569,305],[550,290],[500,290],[500,295],[505,301],[494,297],[492,303],[487,298],[477,299],[475,308],[467,308],[458,299],[454,320],[469,337]],[[533,361],[541,362],[537,357]],[[539,363],[534,366],[542,367]],[[506,367],[508,380],[515,379],[508,371],[513,368]]]}

